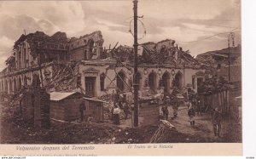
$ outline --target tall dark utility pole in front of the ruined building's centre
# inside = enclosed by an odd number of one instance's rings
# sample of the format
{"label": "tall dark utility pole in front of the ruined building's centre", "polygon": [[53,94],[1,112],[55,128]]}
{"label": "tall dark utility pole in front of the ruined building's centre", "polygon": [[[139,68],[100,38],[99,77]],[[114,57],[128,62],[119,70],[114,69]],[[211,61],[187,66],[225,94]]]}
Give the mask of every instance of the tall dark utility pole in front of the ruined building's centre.
{"label": "tall dark utility pole in front of the ruined building's centre", "polygon": [[138,126],[138,79],[137,79],[137,3],[138,0],[133,0],[134,11],[134,74],[133,74],[133,88],[134,88],[134,127]]}

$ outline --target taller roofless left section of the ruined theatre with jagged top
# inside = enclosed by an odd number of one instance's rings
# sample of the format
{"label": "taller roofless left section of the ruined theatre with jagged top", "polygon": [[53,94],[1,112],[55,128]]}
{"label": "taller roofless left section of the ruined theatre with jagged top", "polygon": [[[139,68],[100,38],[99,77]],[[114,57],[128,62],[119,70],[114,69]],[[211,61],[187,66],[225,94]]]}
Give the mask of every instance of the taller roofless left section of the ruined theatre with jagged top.
{"label": "taller roofless left section of the ruined theatre with jagged top", "polygon": [[[71,39],[63,32],[56,32],[51,37],[40,31],[21,35],[15,42],[14,53],[6,60],[7,68],[0,72],[0,91],[15,94],[23,86],[31,85],[35,74],[40,76],[44,85],[47,82],[45,78],[53,73],[52,65],[66,64],[71,60],[99,59],[102,43],[101,31]],[[82,56],[81,50],[87,55]]]}

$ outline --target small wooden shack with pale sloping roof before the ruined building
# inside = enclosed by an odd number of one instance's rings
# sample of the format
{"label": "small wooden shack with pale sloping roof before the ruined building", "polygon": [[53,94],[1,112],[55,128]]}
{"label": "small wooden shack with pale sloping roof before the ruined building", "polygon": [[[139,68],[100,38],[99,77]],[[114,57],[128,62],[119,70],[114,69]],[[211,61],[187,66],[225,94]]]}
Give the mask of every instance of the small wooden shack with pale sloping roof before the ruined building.
{"label": "small wooden shack with pale sloping roof before the ruined building", "polygon": [[103,103],[101,100],[86,98],[78,92],[50,93],[50,118],[65,122],[79,120],[79,105],[84,101],[86,111],[84,119],[91,117],[91,122],[103,121]]}

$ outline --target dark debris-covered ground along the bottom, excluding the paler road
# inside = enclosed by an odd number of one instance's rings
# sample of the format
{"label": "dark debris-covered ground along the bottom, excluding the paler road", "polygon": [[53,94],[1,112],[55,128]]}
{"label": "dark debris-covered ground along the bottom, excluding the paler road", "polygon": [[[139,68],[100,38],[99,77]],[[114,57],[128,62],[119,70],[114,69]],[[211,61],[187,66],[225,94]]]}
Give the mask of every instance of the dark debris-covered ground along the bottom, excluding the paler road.
{"label": "dark debris-covered ground along the bottom, excluding the paler road", "polygon": [[[22,120],[18,105],[1,107],[1,144],[129,144],[149,143],[157,126],[119,128],[106,122],[53,122],[49,129],[34,129]],[[224,142],[166,129],[157,143]]]}

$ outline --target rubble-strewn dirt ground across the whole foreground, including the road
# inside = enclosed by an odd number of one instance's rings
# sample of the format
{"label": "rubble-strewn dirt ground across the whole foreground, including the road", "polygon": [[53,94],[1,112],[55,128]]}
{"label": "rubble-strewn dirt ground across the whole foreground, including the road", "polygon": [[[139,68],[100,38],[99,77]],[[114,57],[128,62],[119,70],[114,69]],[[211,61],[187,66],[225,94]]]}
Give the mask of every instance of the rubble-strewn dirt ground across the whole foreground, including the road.
{"label": "rubble-strewn dirt ground across the whole foreground, including the road", "polygon": [[[52,123],[51,128],[28,128],[13,107],[0,107],[0,143],[2,144],[86,144],[86,143],[148,143],[157,126],[131,128],[131,120],[122,120],[120,126],[102,123]],[[3,112],[4,111],[4,112]],[[195,117],[195,127],[189,125],[186,108],[180,108],[175,120],[169,121],[177,128],[166,134],[166,143],[241,142],[241,125],[224,122],[222,137],[215,139],[211,117],[208,114]],[[4,115],[4,116],[2,116]]]}

